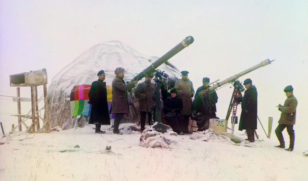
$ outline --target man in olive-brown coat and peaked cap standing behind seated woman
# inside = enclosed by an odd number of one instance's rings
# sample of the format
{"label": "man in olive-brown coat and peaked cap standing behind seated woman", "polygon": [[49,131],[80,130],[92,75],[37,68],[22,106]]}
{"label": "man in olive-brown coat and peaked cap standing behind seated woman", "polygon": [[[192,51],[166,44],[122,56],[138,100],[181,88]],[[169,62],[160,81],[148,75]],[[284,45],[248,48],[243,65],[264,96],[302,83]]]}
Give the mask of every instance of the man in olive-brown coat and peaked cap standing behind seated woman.
{"label": "man in olive-brown coat and peaked cap standing behind seated woman", "polygon": [[186,70],[182,71],[182,79],[176,81],[174,85],[174,88],[176,89],[176,95],[183,100],[183,109],[181,111],[181,114],[184,115],[185,119],[184,133],[189,133],[189,116],[192,112],[192,97],[195,94],[195,90],[193,89],[193,82],[188,80],[188,73],[189,72]]}

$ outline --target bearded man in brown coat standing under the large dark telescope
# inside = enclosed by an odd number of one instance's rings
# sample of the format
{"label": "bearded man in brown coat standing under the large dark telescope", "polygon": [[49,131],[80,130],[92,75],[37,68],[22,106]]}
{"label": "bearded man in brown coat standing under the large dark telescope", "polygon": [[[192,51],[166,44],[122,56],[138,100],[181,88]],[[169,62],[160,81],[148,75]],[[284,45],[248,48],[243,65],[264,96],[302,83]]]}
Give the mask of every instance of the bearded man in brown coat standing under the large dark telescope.
{"label": "bearded man in brown coat standing under the large dark telescope", "polygon": [[145,119],[148,114],[148,123],[151,125],[151,108],[155,105],[155,84],[151,83],[152,74],[145,76],[145,81],[138,84],[135,90],[135,96],[139,98],[140,110],[140,132],[144,130]]}

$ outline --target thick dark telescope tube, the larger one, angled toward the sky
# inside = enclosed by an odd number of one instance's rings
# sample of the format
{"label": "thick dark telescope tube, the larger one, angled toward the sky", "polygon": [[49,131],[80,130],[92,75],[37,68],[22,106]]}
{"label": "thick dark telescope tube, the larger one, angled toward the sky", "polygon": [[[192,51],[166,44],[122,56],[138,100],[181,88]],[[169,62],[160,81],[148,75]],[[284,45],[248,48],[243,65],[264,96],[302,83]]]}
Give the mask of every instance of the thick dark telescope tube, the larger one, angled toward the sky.
{"label": "thick dark telescope tube, the larger one, angled toward the sky", "polygon": [[160,57],[158,60],[153,62],[150,66],[148,66],[146,69],[144,69],[142,72],[140,72],[136,77],[134,77],[132,81],[140,81],[143,77],[148,75],[149,73],[153,73],[155,69],[163,64],[165,61],[169,60],[171,57],[173,57],[176,53],[179,53],[182,49],[185,47],[188,47],[188,45],[192,44],[194,41],[192,36],[186,37],[183,41],[181,41],[178,45],[176,45],[173,49],[169,50],[166,54],[164,54],[162,57]]}

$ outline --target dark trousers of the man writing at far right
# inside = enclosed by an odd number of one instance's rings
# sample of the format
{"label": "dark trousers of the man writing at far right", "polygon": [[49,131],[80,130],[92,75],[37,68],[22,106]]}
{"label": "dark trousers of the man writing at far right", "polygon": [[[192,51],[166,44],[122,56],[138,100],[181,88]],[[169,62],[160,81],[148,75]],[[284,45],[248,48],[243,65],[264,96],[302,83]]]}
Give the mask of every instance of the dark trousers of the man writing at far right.
{"label": "dark trousers of the man writing at far right", "polygon": [[295,141],[295,133],[293,129],[293,124],[278,124],[277,128],[275,129],[276,136],[279,140],[280,144],[285,144],[285,141],[282,136],[282,131],[287,128],[287,132],[290,137],[290,146],[289,148],[294,148],[294,141]]}

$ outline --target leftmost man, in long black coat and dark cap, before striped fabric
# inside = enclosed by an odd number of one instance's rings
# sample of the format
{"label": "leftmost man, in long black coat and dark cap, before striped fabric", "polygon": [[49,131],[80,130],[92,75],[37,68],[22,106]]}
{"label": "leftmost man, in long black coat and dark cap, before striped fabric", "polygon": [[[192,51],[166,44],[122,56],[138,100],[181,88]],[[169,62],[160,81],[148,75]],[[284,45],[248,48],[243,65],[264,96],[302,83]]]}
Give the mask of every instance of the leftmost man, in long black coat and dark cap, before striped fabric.
{"label": "leftmost man, in long black coat and dark cap, before striped fabric", "polygon": [[101,125],[110,125],[110,117],[107,103],[106,74],[103,70],[97,73],[98,80],[92,82],[89,90],[89,104],[92,105],[89,124],[95,124],[95,133],[100,131]]}

